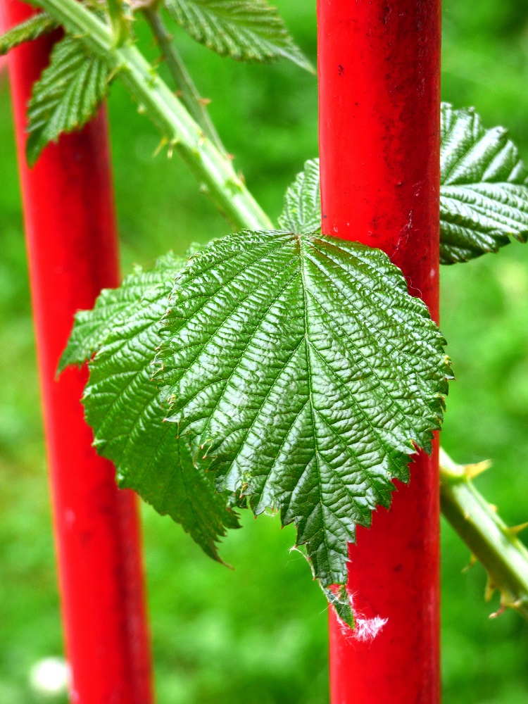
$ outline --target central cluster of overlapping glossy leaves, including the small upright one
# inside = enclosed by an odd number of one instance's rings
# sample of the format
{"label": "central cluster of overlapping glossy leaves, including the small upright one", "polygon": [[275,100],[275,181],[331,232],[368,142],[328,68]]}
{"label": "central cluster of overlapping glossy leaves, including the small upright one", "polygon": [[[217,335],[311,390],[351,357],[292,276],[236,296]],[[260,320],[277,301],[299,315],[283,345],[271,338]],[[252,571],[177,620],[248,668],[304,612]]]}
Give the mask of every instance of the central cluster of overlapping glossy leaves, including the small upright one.
{"label": "central cluster of overlapping glossy leaves, including the small upright one", "polygon": [[351,624],[331,589],[347,543],[430,449],[451,366],[384,253],[306,232],[314,174],[287,194],[285,230],[232,234],[104,291],[61,368],[94,355],[84,406],[120,486],[215,558],[234,506],[277,511]]}

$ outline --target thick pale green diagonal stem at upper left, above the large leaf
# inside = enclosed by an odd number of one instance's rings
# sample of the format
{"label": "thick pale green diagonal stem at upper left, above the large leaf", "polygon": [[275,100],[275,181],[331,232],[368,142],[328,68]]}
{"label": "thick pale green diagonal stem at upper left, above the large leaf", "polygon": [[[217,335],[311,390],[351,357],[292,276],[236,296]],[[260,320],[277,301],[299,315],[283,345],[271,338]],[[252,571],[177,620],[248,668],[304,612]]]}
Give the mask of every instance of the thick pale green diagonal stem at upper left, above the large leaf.
{"label": "thick pale green diagonal stem at upper left, above the large leaf", "polygon": [[271,220],[234,172],[227,156],[207,139],[134,46],[115,46],[108,27],[76,0],[38,0],[38,4],[108,63],[142,111],[158,127],[169,148],[180,153],[199,180],[201,190],[234,227],[273,228]]}

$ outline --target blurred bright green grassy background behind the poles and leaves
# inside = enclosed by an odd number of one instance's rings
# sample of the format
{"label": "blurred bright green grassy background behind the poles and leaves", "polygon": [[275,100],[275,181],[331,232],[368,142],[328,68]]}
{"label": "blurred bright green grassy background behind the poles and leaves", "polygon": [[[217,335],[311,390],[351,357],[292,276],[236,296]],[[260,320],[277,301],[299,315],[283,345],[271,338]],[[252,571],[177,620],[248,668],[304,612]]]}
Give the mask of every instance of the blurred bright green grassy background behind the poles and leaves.
{"label": "blurred bright green grassy background behind the poles and leaves", "polygon": [[[277,2],[315,61],[315,7]],[[144,36],[146,51],[153,48]],[[227,149],[276,217],[287,184],[315,156],[315,78],[294,65],[244,66],[177,31],[182,54]],[[528,158],[526,0],[444,2],[443,97],[510,128]],[[151,265],[192,240],[227,232],[184,167],[116,84],[110,101],[122,268]],[[6,77],[0,78],[0,703],[41,701],[30,667],[61,655],[61,628],[43,458],[20,194]],[[528,519],[528,247],[442,270],[442,329],[455,363],[443,441],[460,461],[494,460],[479,478],[511,524]],[[235,571],[215,564],[180,527],[143,508],[159,704],[324,704],[325,599],[289,553],[290,529],[246,517],[225,542]],[[445,704],[528,701],[528,624],[496,620],[481,567],[442,527]],[[402,677],[406,673],[402,672]],[[62,698],[50,698],[53,704]]]}

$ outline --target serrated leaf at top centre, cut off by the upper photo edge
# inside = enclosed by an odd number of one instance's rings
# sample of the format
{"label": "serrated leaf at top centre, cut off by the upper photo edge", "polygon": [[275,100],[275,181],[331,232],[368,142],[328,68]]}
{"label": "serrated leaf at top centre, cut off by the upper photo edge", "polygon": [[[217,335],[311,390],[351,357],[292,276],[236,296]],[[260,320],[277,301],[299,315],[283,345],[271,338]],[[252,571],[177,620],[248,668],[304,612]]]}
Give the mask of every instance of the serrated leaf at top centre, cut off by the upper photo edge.
{"label": "serrated leaf at top centre, cut off by the upper photo edge", "polygon": [[196,42],[220,56],[260,62],[289,58],[312,70],[266,0],[165,0],[165,7]]}

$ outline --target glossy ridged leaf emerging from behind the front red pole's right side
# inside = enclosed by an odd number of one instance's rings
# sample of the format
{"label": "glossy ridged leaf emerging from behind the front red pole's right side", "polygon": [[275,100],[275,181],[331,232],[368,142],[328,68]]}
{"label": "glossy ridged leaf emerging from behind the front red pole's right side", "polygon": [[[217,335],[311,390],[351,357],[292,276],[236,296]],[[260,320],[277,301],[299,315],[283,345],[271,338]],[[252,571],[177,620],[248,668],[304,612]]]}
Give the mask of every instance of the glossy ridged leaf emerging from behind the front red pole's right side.
{"label": "glossy ridged leaf emerging from behind the front red pole's right side", "polygon": [[528,171],[503,127],[485,130],[472,109],[441,111],[442,264],[496,252],[528,237]]}

